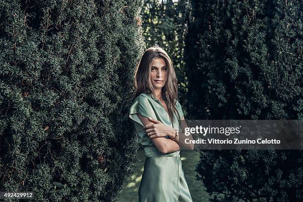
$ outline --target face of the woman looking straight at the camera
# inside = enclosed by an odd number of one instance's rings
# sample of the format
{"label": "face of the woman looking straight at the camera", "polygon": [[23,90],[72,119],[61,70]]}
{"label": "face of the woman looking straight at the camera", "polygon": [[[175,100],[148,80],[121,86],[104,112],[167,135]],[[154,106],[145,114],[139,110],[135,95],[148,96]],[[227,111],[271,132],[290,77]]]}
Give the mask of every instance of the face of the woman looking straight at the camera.
{"label": "face of the woman looking straight at the camera", "polygon": [[166,62],[162,57],[152,61],[151,82],[154,89],[162,88],[166,82]]}

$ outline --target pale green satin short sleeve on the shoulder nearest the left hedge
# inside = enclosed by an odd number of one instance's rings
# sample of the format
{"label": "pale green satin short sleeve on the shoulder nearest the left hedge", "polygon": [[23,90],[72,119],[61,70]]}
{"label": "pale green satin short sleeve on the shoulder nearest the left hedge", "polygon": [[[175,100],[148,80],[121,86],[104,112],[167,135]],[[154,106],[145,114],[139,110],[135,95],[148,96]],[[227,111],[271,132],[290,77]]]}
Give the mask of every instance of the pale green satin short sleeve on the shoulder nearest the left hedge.
{"label": "pale green satin short sleeve on the shoulder nearest the left hedge", "polygon": [[148,98],[142,95],[138,96],[131,104],[129,109],[129,117],[143,126],[143,123],[137,115],[138,113],[142,116],[151,117],[157,120],[151,102]]}

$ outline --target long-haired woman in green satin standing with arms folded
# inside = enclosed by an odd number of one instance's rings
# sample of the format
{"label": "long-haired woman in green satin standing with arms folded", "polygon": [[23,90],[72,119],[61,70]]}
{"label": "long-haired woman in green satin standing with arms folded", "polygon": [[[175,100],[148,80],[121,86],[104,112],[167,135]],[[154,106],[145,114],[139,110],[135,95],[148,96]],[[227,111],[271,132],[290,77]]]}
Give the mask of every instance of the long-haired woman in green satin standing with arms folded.
{"label": "long-haired woman in green satin standing with arms folded", "polygon": [[[164,50],[152,47],[144,52],[135,87],[129,117],[146,155],[139,202],[192,202],[178,144],[179,121],[184,116],[177,101],[176,75]],[[193,145],[187,147],[193,149]]]}

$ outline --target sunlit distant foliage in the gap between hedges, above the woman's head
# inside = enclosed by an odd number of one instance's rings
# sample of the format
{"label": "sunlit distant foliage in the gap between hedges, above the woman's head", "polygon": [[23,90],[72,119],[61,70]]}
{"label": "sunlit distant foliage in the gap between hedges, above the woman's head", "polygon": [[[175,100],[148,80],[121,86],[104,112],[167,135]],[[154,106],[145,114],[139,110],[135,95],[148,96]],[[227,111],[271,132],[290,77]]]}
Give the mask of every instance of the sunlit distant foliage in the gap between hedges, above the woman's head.
{"label": "sunlit distant foliage in the gap between hedges, above the woman's head", "polygon": [[181,100],[186,90],[183,52],[188,7],[188,0],[145,0],[141,11],[146,47],[159,46],[170,56],[178,78]]}

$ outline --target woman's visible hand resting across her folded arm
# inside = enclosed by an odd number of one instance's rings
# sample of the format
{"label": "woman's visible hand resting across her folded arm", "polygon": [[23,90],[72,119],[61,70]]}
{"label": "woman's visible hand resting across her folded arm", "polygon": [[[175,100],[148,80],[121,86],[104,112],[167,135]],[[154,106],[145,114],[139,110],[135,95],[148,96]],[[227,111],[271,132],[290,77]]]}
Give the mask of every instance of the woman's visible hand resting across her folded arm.
{"label": "woman's visible hand resting across her folded arm", "polygon": [[175,129],[172,127],[166,126],[160,121],[149,118],[154,124],[145,125],[143,129],[146,129],[146,133],[150,138],[160,138],[166,136],[174,136]]}

